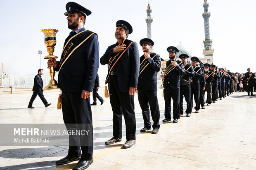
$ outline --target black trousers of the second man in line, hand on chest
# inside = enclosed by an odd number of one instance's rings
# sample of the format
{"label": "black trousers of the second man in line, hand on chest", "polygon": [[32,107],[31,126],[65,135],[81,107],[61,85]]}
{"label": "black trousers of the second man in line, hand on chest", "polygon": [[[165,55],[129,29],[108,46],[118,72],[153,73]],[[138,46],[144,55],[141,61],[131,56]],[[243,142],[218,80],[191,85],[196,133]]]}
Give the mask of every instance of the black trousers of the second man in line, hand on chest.
{"label": "black trousers of the second man in line, hand on chest", "polygon": [[126,140],[135,140],[136,120],[134,95],[119,90],[116,75],[111,76],[110,81],[111,89],[109,89],[109,94],[113,111],[113,136],[115,138],[122,136],[122,117],[124,117],[126,123]]}

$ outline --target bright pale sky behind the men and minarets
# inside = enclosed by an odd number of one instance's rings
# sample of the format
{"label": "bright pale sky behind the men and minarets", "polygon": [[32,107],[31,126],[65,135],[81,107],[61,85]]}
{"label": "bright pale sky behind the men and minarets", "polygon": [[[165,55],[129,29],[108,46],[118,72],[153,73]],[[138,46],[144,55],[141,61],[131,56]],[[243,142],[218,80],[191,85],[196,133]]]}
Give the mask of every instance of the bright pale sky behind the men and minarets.
{"label": "bright pale sky behind the men and minarets", "polygon": [[[0,63],[4,72],[15,75],[34,75],[39,68],[46,70],[47,54],[42,29],[58,29],[54,55],[60,57],[68,36],[65,5],[68,0],[0,0],[1,38]],[[116,43],[116,21],[122,19],[133,26],[128,39],[139,43],[147,37],[146,9],[148,0],[76,0],[90,9],[85,28],[96,32],[100,43],[100,57],[107,47]],[[210,37],[213,39],[213,64],[231,72],[256,71],[256,1],[208,0]],[[154,52],[168,59],[168,46],[181,42],[193,56],[203,57],[204,0],[150,0],[152,8],[152,39]],[[139,45],[139,44],[138,44]],[[139,46],[142,55],[141,46]],[[57,59],[59,60],[59,59]],[[100,77],[107,75],[107,66],[100,65]]]}

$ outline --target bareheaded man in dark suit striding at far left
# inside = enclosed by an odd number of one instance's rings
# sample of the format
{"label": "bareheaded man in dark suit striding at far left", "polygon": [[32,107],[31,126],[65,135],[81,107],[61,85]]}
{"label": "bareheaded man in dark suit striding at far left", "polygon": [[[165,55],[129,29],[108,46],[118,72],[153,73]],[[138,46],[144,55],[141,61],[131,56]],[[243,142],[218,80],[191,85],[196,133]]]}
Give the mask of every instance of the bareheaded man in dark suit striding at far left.
{"label": "bareheaded man in dark suit striding at far left", "polygon": [[43,75],[43,69],[39,69],[38,74],[34,78],[34,86],[33,86],[33,89],[32,89],[33,94],[31,96],[31,99],[30,99],[29,103],[28,103],[28,108],[34,108],[32,105],[33,105],[33,101],[36,99],[37,95],[43,101],[46,108],[52,104],[52,103],[48,103],[46,101],[45,97],[43,96],[43,80],[41,78],[42,75]]}

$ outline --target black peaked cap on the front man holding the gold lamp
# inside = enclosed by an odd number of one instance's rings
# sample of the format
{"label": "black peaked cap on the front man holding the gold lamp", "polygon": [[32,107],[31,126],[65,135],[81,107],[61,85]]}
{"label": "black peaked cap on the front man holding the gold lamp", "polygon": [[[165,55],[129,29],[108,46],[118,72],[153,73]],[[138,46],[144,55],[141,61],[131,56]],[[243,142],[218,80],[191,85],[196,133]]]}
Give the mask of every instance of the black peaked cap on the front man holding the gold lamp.
{"label": "black peaked cap on the front man holding the gold lamp", "polygon": [[68,16],[69,12],[80,12],[85,17],[92,14],[92,12],[89,9],[86,9],[85,7],[79,5],[76,2],[68,2],[66,4],[66,12],[64,13],[64,15]]}

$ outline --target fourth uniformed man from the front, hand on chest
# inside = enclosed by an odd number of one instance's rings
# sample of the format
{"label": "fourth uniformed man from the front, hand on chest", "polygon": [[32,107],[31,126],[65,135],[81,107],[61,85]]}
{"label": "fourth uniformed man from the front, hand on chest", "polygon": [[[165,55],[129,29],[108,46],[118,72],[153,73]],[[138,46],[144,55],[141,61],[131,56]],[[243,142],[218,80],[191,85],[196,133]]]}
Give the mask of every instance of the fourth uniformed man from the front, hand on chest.
{"label": "fourth uniformed man from the front, hand on chest", "polygon": [[176,60],[178,48],[169,46],[167,48],[170,60],[166,63],[164,78],[164,117],[163,122],[171,121],[171,99],[173,99],[173,123],[180,118],[180,75],[185,75],[184,66],[181,61]]}

